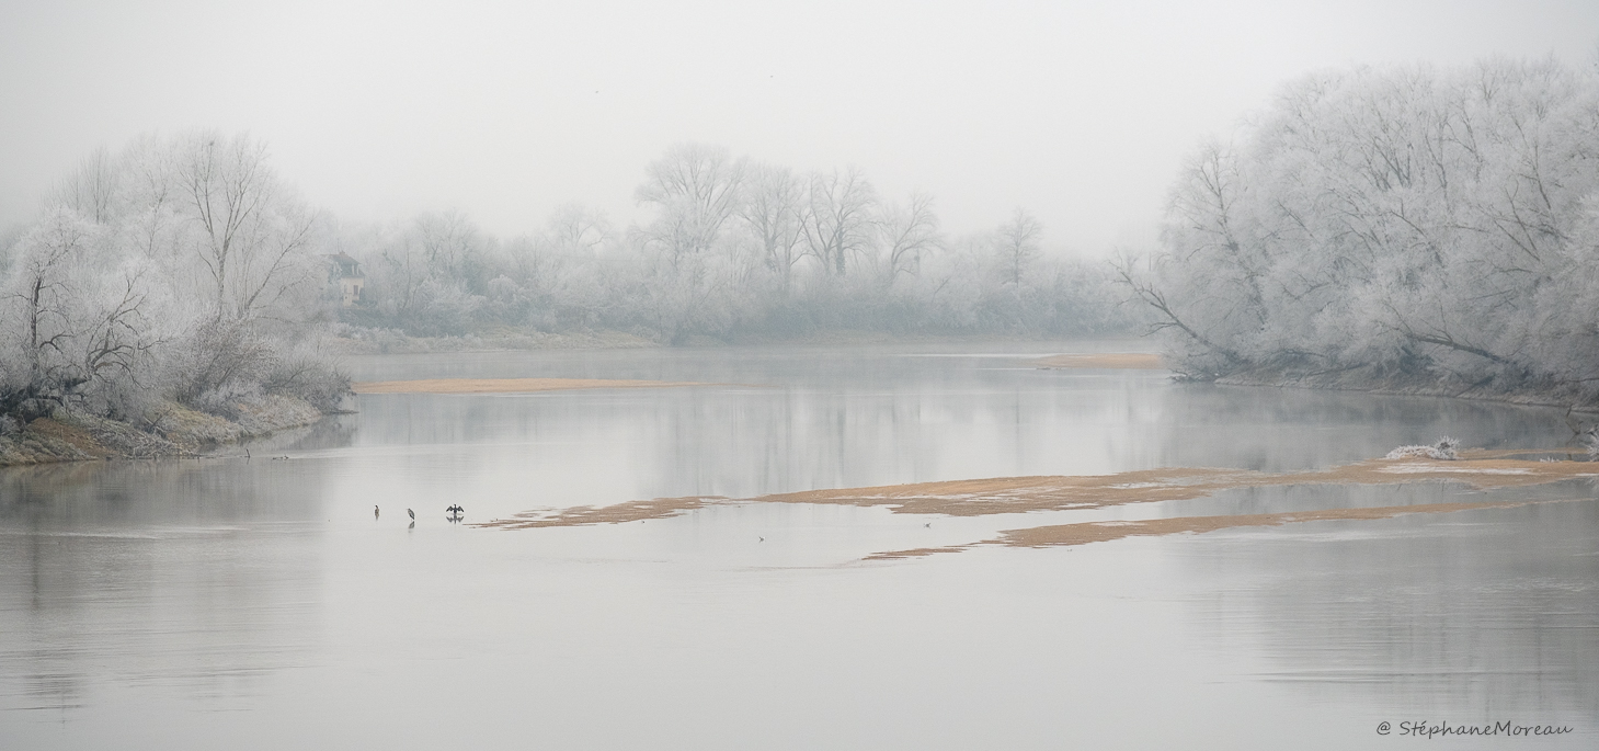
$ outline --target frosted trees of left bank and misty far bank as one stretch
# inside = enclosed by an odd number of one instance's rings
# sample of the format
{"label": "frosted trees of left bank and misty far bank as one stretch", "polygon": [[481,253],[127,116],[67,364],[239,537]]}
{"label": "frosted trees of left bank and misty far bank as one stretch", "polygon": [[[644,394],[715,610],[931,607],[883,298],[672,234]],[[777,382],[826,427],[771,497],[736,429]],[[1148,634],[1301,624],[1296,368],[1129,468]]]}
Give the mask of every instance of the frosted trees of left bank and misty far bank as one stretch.
{"label": "frosted trees of left bank and misty far bank as one stretch", "polygon": [[[497,239],[462,213],[339,223],[262,143],[195,131],[96,151],[0,237],[0,428],[59,407],[133,423],[166,402],[227,413],[262,394],[331,408],[328,335],[619,330],[667,344],[833,330],[1081,335],[1127,327],[1111,269],[1044,253],[1017,210],[950,237],[931,195],[886,200],[854,168],[796,175],[672,147],[616,227],[569,205]],[[341,306],[333,261],[361,263]]]}

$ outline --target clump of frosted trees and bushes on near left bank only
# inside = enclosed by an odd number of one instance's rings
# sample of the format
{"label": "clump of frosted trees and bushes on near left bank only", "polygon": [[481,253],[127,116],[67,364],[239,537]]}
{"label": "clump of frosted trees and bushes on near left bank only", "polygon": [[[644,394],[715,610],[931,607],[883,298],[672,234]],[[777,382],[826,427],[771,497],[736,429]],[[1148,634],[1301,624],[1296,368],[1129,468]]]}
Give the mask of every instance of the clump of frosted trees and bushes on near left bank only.
{"label": "clump of frosted trees and bushes on near left bank only", "polygon": [[0,413],[141,421],[163,399],[225,413],[307,389],[278,373],[331,319],[318,250],[317,215],[248,138],[93,154],[0,255]]}

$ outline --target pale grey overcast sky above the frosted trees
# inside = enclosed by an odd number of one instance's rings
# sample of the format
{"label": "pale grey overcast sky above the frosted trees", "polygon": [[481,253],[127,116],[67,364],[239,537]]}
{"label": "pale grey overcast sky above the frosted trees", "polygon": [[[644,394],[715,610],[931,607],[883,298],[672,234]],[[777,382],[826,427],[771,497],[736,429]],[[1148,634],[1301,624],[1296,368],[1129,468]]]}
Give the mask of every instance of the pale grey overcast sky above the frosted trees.
{"label": "pale grey overcast sky above the frosted trees", "polygon": [[249,131],[344,219],[617,224],[670,144],[932,192],[945,229],[1151,243],[1177,165],[1281,83],[1353,64],[1591,64],[1599,0],[0,0],[0,227],[98,146]]}

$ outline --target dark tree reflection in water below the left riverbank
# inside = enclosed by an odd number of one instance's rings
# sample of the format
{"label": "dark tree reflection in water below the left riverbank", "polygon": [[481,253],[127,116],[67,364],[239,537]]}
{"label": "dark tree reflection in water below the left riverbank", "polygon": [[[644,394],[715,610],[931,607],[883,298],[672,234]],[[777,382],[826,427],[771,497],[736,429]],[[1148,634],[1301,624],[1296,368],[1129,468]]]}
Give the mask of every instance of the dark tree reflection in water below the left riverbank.
{"label": "dark tree reflection in water below the left riverbank", "polygon": [[205,700],[249,695],[312,644],[313,466],[130,461],[0,472],[5,708],[94,703],[107,679]]}

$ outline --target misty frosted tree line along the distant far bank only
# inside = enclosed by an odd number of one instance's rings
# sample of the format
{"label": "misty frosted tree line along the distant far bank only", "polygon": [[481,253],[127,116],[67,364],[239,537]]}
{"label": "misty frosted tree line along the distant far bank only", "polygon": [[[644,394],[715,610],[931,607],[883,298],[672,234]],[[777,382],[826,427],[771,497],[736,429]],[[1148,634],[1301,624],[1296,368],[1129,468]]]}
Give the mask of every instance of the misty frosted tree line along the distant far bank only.
{"label": "misty frosted tree line along the distant far bank only", "polygon": [[635,199],[651,216],[627,227],[568,205],[508,240],[461,213],[342,232],[366,275],[365,306],[342,317],[421,336],[512,325],[667,344],[1129,327],[1111,269],[1044,253],[1025,210],[951,237],[927,194],[892,200],[855,168],[801,175],[705,144],[649,163]]}

